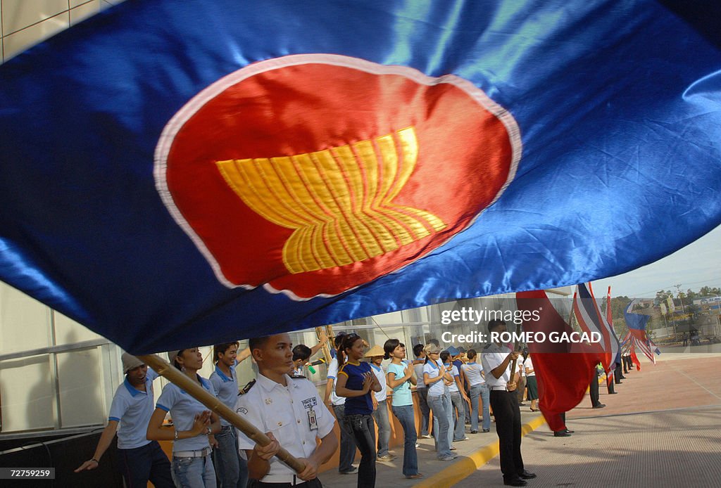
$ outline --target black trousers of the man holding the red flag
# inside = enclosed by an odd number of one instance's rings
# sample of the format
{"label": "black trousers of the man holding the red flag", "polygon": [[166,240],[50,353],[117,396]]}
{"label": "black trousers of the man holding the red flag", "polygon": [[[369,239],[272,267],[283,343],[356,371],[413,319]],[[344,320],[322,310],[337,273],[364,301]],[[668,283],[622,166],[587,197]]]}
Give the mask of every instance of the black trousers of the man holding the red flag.
{"label": "black trousers of the man holding the red flag", "polygon": [[496,433],[500,446],[500,470],[503,472],[503,479],[515,479],[523,472],[521,410],[518,410],[518,394],[492,389],[490,404],[496,420]]}

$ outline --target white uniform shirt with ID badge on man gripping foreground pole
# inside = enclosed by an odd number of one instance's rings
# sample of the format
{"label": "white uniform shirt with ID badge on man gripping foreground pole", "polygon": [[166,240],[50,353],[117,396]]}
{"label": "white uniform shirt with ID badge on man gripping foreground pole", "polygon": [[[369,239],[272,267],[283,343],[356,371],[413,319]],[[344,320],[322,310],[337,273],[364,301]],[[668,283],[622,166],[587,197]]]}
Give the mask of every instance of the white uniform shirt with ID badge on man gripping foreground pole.
{"label": "white uniform shirt with ID badge on man gripping foreground pole", "polygon": [[[324,438],[333,430],[335,417],[323,405],[311,381],[286,375],[286,384],[288,387],[283,387],[259,374],[253,387],[238,397],[235,411],[261,432],[272,432],[280,446],[296,458],[307,458],[316,449],[316,438]],[[237,433],[240,449],[255,446],[255,440],[240,430]],[[273,456],[270,471],[261,481],[272,482],[273,476],[293,474],[295,471]]]}

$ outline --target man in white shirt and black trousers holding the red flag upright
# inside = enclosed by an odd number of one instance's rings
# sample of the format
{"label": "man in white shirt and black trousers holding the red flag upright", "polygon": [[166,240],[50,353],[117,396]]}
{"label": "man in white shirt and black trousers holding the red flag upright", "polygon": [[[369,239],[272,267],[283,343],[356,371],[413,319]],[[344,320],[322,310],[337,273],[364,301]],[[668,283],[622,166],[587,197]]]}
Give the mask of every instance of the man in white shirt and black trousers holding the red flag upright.
{"label": "man in white shirt and black trousers holding the red flag upright", "polygon": [[[525,487],[526,479],[536,477],[523,468],[521,456],[521,410],[518,409],[515,371],[511,377],[510,364],[518,359],[518,351],[508,351],[497,334],[505,332],[505,321],[491,320],[488,332],[492,343],[483,348],[481,363],[486,383],[490,389],[490,404],[496,420],[496,432],[500,446],[500,470],[503,484]],[[494,335],[493,333],[496,333]]]}

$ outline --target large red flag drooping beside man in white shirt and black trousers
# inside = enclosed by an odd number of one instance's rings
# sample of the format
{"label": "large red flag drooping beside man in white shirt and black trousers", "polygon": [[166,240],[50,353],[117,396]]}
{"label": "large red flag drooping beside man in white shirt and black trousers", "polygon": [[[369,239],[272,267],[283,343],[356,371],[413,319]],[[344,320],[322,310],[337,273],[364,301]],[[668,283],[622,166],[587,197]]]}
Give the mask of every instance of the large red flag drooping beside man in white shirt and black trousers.
{"label": "large red flag drooping beside man in white shirt and black trousers", "polygon": [[[526,333],[571,333],[572,328],[556,312],[546,292],[516,294],[518,310],[538,313],[539,320],[523,322]],[[560,415],[571,410],[583,399],[592,378],[596,377],[596,364],[601,355],[569,343],[528,343],[539,385],[539,408],[551,430],[563,430]]]}

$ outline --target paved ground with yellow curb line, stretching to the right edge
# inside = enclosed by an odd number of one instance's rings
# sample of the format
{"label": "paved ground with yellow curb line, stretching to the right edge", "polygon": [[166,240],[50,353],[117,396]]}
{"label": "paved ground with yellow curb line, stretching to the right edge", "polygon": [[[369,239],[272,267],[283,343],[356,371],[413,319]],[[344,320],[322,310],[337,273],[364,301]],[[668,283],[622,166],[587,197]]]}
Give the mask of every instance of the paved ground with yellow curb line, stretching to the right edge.
{"label": "paved ground with yellow curb line, stretching to the right edge", "polygon": [[[665,356],[665,357],[664,357]],[[663,358],[663,359],[661,359]],[[529,487],[721,486],[720,354],[665,354],[653,365],[640,358],[618,394],[601,385],[603,409],[588,394],[567,413],[576,433],[554,438],[543,417],[521,407],[523,460],[539,475]],[[420,482],[404,479],[402,449],[392,463],[377,463],[376,487],[503,486],[495,424],[487,434],[455,443],[456,461],[437,461],[432,439],[420,439]],[[322,473],[325,487],[350,488],[355,475]]]}

